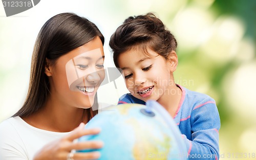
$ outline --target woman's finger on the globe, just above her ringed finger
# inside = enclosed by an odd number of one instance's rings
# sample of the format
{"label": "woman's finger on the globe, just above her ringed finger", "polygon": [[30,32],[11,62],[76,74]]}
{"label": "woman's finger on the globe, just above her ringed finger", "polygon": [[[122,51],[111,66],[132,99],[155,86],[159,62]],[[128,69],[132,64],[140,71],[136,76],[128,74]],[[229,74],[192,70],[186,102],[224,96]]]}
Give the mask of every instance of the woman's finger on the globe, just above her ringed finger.
{"label": "woman's finger on the globe, just above her ringed finger", "polygon": [[69,149],[70,150],[99,149],[99,148],[102,148],[103,145],[104,143],[102,141],[78,142],[78,143],[72,143],[69,146]]}

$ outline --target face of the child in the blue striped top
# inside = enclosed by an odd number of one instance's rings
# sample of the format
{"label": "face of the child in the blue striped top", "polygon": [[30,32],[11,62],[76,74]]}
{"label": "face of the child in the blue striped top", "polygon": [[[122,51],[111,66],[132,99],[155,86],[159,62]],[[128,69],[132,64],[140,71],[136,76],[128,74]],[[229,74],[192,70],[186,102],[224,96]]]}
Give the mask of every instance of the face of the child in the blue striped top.
{"label": "face of the child in the blue striped top", "polygon": [[173,84],[173,63],[158,53],[147,49],[148,55],[137,49],[121,53],[119,67],[123,70],[125,84],[130,93],[143,101],[158,101],[170,92]]}

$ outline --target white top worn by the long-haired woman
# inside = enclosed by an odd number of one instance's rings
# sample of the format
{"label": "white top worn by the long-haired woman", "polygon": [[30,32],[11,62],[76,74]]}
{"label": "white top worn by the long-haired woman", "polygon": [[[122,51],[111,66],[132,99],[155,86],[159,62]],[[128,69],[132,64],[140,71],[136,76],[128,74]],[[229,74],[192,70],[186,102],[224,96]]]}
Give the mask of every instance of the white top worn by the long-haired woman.
{"label": "white top worn by the long-haired woman", "polygon": [[32,160],[38,150],[68,133],[42,130],[20,117],[9,118],[0,123],[0,159]]}

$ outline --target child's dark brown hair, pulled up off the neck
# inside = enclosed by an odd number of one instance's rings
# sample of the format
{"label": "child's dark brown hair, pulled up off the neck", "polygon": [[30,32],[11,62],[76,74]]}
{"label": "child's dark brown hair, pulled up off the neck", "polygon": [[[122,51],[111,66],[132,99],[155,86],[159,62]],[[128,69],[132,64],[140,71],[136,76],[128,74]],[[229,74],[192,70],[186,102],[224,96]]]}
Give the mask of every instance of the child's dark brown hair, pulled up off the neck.
{"label": "child's dark brown hair, pulled up off the neck", "polygon": [[111,36],[110,47],[114,63],[119,67],[118,56],[133,47],[138,47],[145,53],[148,47],[167,58],[170,52],[176,50],[177,41],[159,18],[153,13],[147,13],[125,19]]}

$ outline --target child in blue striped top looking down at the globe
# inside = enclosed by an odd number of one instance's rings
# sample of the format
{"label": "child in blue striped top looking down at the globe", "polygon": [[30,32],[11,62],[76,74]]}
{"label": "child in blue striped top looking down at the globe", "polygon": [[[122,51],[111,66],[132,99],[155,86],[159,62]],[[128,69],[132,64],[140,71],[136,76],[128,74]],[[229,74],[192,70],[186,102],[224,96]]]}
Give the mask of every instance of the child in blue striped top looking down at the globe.
{"label": "child in blue striped top looking down at the globe", "polygon": [[219,159],[216,102],[175,84],[177,41],[162,21],[152,13],[129,17],[111,36],[110,47],[131,93],[119,104],[159,102],[180,128],[189,159]]}

